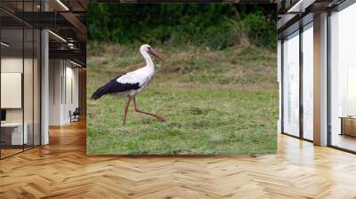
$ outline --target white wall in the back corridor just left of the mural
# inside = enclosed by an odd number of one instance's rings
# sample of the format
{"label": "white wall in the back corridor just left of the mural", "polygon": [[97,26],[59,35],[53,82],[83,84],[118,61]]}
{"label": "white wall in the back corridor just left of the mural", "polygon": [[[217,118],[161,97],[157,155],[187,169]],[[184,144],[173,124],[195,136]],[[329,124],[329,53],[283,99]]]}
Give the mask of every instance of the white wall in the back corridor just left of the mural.
{"label": "white wall in the back corridor just left of the mural", "polygon": [[74,67],[68,60],[50,60],[50,125],[70,123],[69,111],[78,107],[78,69]]}

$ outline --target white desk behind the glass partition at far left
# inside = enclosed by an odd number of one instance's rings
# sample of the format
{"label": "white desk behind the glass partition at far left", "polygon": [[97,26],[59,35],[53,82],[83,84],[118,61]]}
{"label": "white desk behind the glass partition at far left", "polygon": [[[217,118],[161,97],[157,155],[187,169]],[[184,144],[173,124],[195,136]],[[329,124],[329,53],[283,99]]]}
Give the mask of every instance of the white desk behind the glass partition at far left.
{"label": "white desk behind the glass partition at far left", "polygon": [[28,144],[28,123],[24,123],[23,126],[25,126],[25,131],[22,137],[22,123],[1,123],[2,139],[8,137],[8,139],[3,139],[7,145]]}

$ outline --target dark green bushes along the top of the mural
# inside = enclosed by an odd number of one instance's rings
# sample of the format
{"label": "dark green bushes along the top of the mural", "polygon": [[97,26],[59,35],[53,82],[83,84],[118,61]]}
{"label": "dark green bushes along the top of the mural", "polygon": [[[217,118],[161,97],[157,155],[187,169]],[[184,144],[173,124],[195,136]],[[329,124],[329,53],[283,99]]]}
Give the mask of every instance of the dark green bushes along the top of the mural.
{"label": "dark green bushes along the top of the mural", "polygon": [[117,44],[275,47],[276,9],[248,4],[90,4],[88,38]]}

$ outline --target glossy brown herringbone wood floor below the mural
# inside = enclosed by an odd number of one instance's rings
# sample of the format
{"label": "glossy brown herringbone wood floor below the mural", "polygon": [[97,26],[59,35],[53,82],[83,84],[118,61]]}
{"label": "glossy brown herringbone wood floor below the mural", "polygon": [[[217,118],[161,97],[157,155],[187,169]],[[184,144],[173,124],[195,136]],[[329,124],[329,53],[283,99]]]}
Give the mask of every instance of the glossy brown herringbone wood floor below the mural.
{"label": "glossy brown herringbone wood floor below the mural", "polygon": [[0,161],[0,198],[356,198],[356,155],[279,135],[277,155],[85,155],[85,123]]}

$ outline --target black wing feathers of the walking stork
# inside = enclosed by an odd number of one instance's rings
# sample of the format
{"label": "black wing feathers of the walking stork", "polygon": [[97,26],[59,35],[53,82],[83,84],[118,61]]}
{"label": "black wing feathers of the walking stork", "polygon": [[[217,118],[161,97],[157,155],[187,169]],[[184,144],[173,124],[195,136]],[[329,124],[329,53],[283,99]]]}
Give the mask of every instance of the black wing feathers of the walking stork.
{"label": "black wing feathers of the walking stork", "polygon": [[[120,75],[120,76],[124,76]],[[114,79],[110,80],[107,84],[101,86],[96,92],[93,93],[92,95],[92,100],[98,100],[101,98],[101,96],[109,93],[116,93],[116,92],[127,92],[130,90],[138,90],[140,89],[139,83],[136,84],[121,84],[117,82],[117,78],[120,77],[117,76]]]}

